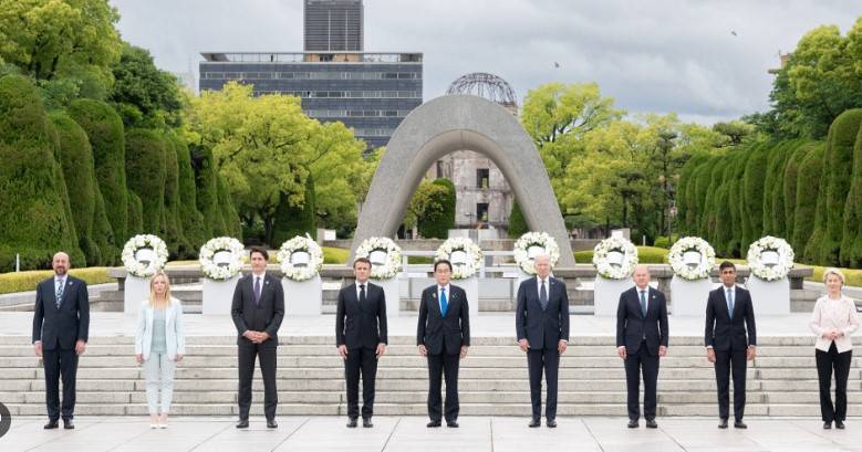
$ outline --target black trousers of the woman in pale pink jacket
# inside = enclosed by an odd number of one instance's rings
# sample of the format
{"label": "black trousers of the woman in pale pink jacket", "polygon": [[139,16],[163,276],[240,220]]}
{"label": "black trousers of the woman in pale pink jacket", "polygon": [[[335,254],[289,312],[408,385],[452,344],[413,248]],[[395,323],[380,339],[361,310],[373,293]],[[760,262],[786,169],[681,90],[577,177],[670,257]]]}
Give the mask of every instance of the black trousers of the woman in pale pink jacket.
{"label": "black trousers of the woman in pale pink jacket", "polygon": [[[820,413],[823,422],[844,421],[847,418],[847,379],[853,350],[838,353],[835,343],[829,351],[817,350],[817,377],[820,380]],[[835,371],[835,404],[829,393],[832,386],[832,369]]]}

